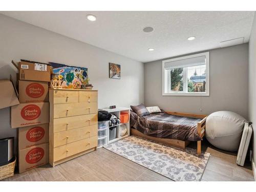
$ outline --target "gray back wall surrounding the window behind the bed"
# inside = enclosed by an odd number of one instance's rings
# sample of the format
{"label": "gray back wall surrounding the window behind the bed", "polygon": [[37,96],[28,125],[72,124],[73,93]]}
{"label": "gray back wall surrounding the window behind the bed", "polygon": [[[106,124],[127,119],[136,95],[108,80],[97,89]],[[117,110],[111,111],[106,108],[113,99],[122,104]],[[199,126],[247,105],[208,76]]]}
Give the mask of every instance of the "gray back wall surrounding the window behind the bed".
{"label": "gray back wall surrounding the window behind the bed", "polygon": [[248,118],[248,44],[210,50],[209,57],[209,96],[162,96],[164,59],[145,63],[145,105],[206,115],[228,110]]}

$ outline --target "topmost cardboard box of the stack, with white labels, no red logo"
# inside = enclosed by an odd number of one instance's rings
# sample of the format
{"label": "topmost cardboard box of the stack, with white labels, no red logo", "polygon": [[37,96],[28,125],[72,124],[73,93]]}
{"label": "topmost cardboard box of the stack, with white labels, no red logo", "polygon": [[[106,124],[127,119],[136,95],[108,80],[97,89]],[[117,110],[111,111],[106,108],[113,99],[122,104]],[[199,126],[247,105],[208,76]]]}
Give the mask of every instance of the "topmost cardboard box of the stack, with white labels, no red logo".
{"label": "topmost cardboard box of the stack, with white labels, no red logo", "polygon": [[18,62],[19,80],[46,81],[51,80],[51,67],[46,64]]}

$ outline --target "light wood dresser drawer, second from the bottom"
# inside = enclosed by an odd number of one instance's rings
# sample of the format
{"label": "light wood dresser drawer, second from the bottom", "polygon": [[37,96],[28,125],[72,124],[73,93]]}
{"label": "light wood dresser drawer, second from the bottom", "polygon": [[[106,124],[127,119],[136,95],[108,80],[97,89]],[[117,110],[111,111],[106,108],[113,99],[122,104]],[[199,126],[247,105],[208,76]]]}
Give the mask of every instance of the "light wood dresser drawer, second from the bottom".
{"label": "light wood dresser drawer, second from the bottom", "polygon": [[58,132],[54,134],[53,146],[57,147],[57,146],[65,145],[68,143],[72,143],[74,141],[86,139],[86,138],[97,136],[97,135],[98,135],[98,126],[96,124],[91,126],[79,127],[74,130]]}

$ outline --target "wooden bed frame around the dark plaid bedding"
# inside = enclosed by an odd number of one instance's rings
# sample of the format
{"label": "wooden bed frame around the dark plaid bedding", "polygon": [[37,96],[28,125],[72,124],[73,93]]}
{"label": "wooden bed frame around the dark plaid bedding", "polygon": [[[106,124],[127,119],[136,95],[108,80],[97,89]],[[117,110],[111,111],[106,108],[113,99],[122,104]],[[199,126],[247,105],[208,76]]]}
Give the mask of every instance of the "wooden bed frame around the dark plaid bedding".
{"label": "wooden bed frame around the dark plaid bedding", "polygon": [[[205,120],[207,115],[199,115],[199,114],[190,114],[190,113],[179,113],[179,112],[165,112],[170,115],[177,115],[177,116],[182,116],[182,117],[192,117],[192,118],[199,118],[202,119],[200,122],[197,123],[197,133],[198,135],[203,138],[204,132],[205,132]],[[168,144],[171,146],[179,147],[185,150],[185,147],[189,144],[189,141],[182,141],[179,139],[167,139],[167,138],[158,138],[158,137],[152,137],[145,135],[135,129],[131,129],[131,134],[136,135],[139,137],[143,137],[145,139],[151,139],[156,142]],[[197,154],[201,155],[201,141],[197,141]]]}

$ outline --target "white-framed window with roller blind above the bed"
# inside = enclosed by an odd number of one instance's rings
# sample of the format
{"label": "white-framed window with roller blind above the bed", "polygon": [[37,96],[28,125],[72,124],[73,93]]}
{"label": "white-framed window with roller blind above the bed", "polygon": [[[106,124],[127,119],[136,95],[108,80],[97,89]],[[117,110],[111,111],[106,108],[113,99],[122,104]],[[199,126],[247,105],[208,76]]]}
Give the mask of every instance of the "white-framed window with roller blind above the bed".
{"label": "white-framed window with roller blind above the bed", "polygon": [[164,60],[163,95],[209,96],[209,52]]}

